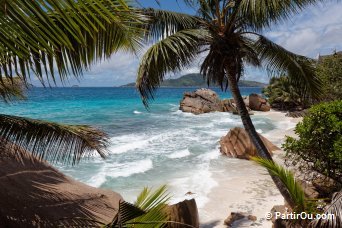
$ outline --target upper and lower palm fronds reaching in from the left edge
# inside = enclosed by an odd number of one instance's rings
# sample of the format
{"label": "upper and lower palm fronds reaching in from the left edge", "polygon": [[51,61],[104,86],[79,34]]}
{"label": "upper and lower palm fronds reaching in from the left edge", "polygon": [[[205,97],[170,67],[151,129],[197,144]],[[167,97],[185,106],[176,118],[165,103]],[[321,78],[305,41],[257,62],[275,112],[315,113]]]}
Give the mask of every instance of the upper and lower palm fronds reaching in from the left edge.
{"label": "upper and lower palm fronds reaching in from the left edge", "polygon": [[[118,50],[135,51],[142,17],[131,12],[124,0],[0,0],[2,100],[22,98],[32,74],[44,86],[58,78],[64,83]],[[106,134],[89,126],[4,114],[0,138],[39,158],[73,164],[94,150],[103,157],[107,144]]]}

